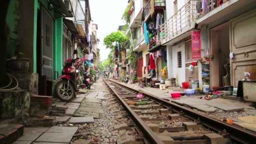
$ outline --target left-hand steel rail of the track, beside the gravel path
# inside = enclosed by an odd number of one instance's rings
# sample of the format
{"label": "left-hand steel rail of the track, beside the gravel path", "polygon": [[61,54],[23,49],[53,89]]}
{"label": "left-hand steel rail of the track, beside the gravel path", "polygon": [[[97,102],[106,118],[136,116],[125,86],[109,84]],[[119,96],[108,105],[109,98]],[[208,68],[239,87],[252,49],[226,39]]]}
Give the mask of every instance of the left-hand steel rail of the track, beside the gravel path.
{"label": "left-hand steel rail of the track, beside the gravel path", "polygon": [[131,114],[133,120],[136,122],[139,128],[141,128],[141,131],[143,132],[143,134],[147,136],[147,140],[152,142],[152,144],[164,144],[163,141],[161,141],[157,137],[157,135],[147,126],[147,124],[143,120],[141,120],[141,118],[139,118],[139,116],[133,111],[133,109],[131,109],[131,107],[128,104],[126,104],[126,102],[119,96],[119,94],[113,88],[110,87],[110,85],[106,82],[106,80],[104,80],[104,82],[109,86],[111,91],[115,93],[117,99],[121,102],[121,104],[123,104],[125,109],[127,109],[128,113]]}

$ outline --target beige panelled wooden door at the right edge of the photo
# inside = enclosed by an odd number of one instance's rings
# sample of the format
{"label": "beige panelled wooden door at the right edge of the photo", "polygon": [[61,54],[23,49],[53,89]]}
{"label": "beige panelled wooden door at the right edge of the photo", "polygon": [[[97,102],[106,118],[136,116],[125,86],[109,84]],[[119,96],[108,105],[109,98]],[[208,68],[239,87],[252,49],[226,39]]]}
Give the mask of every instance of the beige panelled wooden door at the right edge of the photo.
{"label": "beige panelled wooden door at the right edge of the photo", "polygon": [[244,72],[249,72],[251,79],[256,79],[256,9],[229,22],[230,51],[235,54],[230,61],[231,85],[237,87]]}

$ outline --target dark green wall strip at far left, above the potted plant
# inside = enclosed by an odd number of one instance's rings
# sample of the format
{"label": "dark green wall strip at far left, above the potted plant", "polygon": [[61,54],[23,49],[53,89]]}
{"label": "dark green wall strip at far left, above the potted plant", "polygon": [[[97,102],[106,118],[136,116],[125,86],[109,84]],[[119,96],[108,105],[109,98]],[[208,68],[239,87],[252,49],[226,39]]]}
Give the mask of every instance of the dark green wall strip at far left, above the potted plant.
{"label": "dark green wall strip at far left, above the potted plant", "polygon": [[10,27],[10,35],[8,37],[7,57],[15,55],[18,39],[18,26],[20,19],[19,0],[10,0],[6,22]]}

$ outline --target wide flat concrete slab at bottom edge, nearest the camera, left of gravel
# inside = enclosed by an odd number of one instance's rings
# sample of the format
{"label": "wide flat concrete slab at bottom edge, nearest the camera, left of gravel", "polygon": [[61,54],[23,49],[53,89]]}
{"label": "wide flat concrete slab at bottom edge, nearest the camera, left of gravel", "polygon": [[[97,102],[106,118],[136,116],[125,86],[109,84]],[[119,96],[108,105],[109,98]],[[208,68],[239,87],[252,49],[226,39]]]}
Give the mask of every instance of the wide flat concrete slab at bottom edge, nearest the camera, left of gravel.
{"label": "wide flat concrete slab at bottom edge, nearest the camera, left of gravel", "polygon": [[67,143],[71,141],[73,137],[72,133],[43,133],[36,142],[56,142],[56,143]]}

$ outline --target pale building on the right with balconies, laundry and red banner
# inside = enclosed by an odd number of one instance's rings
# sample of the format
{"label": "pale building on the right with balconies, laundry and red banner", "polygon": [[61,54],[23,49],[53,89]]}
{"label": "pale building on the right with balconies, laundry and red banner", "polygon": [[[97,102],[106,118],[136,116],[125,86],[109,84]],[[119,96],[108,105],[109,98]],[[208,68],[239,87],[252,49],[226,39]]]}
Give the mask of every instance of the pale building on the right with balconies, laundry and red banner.
{"label": "pale building on the right with balconies, laundry and red banner", "polygon": [[[237,87],[244,72],[256,78],[255,0],[131,2],[134,11],[129,26],[136,38],[137,77],[147,76],[150,55],[161,50],[160,58],[155,57],[157,78],[161,79],[160,70],[166,66],[176,86],[189,82],[192,88],[195,80],[201,89],[203,85]],[[162,21],[157,23],[158,13]]]}

